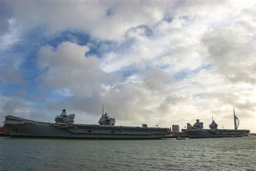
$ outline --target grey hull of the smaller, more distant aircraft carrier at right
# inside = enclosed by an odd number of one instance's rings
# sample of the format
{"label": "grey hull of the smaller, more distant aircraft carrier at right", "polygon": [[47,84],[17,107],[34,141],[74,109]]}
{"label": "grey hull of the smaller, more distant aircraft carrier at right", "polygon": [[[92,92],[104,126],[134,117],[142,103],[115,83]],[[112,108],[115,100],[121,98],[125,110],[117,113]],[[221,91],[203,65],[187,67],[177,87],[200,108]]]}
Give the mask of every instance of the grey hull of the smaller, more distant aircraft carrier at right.
{"label": "grey hull of the smaller, more distant aircraft carrier at right", "polygon": [[227,137],[241,137],[248,135],[248,130],[244,129],[200,129],[198,131],[183,130],[189,138],[227,138]]}

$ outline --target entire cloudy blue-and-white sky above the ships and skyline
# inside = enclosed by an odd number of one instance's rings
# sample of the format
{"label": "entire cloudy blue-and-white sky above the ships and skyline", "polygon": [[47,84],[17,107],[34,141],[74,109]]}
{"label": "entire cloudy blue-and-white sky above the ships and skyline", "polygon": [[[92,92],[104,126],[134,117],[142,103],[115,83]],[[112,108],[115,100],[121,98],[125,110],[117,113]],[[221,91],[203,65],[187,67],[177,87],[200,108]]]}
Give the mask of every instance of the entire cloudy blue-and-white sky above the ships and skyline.
{"label": "entire cloudy blue-and-white sky above the ships and skyline", "polygon": [[0,1],[0,121],[256,133],[255,1]]}

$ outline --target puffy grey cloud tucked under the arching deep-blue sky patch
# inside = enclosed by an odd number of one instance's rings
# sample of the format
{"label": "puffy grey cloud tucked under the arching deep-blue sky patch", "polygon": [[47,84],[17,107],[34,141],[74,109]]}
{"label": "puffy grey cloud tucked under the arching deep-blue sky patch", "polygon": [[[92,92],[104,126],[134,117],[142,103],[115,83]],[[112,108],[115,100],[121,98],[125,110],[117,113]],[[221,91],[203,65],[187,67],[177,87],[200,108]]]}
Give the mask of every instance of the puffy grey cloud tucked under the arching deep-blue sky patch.
{"label": "puffy grey cloud tucked under the arching deep-blue sky patch", "polygon": [[99,67],[96,56],[86,56],[89,47],[72,42],[60,43],[56,49],[43,46],[38,52],[38,67],[43,72],[39,80],[46,86],[78,91],[84,86],[97,87],[116,79]]}

